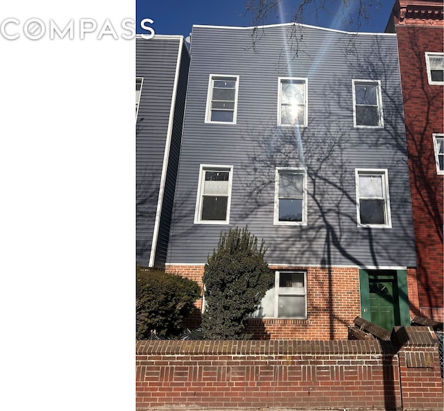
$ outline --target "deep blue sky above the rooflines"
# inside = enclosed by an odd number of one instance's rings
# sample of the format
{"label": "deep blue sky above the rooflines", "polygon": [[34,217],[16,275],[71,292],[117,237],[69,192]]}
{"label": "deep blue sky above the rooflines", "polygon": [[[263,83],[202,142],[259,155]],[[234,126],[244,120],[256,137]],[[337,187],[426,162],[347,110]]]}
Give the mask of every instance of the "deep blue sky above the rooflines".
{"label": "deep blue sky above the rooflines", "polygon": [[[330,1],[330,4],[336,0]],[[291,22],[295,5],[298,0],[282,0],[279,12],[274,12],[266,24],[278,24]],[[340,1],[336,1],[340,3]],[[355,1],[359,3],[359,1]],[[382,7],[377,10],[375,6],[370,12],[372,18],[368,24],[364,24],[360,31],[384,32],[388,17],[395,0],[380,0]],[[186,37],[191,32],[193,24],[209,24],[214,26],[252,26],[253,17],[245,14],[245,0],[136,0],[137,22],[144,18],[153,19],[150,26],[156,34],[180,34]],[[306,24],[346,30],[341,24],[341,18],[336,16],[321,15],[308,17]],[[137,24],[139,27],[139,24]]]}

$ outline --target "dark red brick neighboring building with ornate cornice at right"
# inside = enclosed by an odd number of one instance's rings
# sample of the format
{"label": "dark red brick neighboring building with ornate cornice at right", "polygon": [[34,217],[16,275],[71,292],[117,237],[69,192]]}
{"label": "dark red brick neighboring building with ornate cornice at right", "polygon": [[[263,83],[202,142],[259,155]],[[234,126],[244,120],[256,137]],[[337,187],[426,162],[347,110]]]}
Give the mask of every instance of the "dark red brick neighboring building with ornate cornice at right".
{"label": "dark red brick neighboring building with ornate cornice at right", "polygon": [[387,31],[398,36],[418,262],[415,313],[443,321],[443,1],[396,1]]}

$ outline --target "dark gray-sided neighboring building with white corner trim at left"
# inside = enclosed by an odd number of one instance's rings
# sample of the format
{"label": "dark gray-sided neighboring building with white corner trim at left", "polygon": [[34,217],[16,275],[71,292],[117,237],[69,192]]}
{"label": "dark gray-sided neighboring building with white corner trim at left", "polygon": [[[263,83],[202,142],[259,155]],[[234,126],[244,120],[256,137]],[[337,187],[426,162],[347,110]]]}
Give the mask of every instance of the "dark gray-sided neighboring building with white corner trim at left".
{"label": "dark gray-sided neighboring building with white corner trim at left", "polygon": [[164,267],[189,52],[182,36],[136,38],[136,262]]}

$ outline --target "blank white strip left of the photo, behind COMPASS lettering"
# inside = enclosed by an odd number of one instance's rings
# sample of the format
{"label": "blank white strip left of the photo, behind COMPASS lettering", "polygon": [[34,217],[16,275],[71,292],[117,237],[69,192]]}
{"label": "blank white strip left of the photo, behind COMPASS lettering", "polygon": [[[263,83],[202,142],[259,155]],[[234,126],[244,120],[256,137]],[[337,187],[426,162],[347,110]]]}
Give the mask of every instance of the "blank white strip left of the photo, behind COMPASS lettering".
{"label": "blank white strip left of the photo, behind COMPASS lettering", "polygon": [[[2,410],[135,409],[135,42],[132,1],[2,1]],[[24,22],[74,19],[74,40],[28,40]],[[150,17],[150,16],[146,16]]]}

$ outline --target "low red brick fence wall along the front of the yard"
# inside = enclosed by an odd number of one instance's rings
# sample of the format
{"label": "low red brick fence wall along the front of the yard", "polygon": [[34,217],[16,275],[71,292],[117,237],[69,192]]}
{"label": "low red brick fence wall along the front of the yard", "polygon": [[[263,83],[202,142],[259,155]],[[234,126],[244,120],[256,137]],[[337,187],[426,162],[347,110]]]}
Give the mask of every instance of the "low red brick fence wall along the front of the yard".
{"label": "low red brick fence wall along the front of the yard", "polygon": [[391,342],[138,341],[136,349],[137,410],[443,410],[427,327],[397,327]]}

